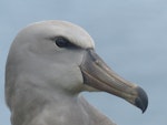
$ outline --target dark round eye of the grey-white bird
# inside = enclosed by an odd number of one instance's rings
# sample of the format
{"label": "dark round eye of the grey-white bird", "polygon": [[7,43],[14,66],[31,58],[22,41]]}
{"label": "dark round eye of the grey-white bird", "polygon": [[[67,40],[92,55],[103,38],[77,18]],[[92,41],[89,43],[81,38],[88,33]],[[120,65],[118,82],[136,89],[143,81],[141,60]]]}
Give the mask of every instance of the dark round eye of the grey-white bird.
{"label": "dark round eye of the grey-white bird", "polygon": [[67,39],[65,39],[65,38],[57,38],[56,40],[55,40],[55,43],[59,46],[59,48],[66,48],[66,46],[68,46],[69,45],[69,41],[67,40]]}

